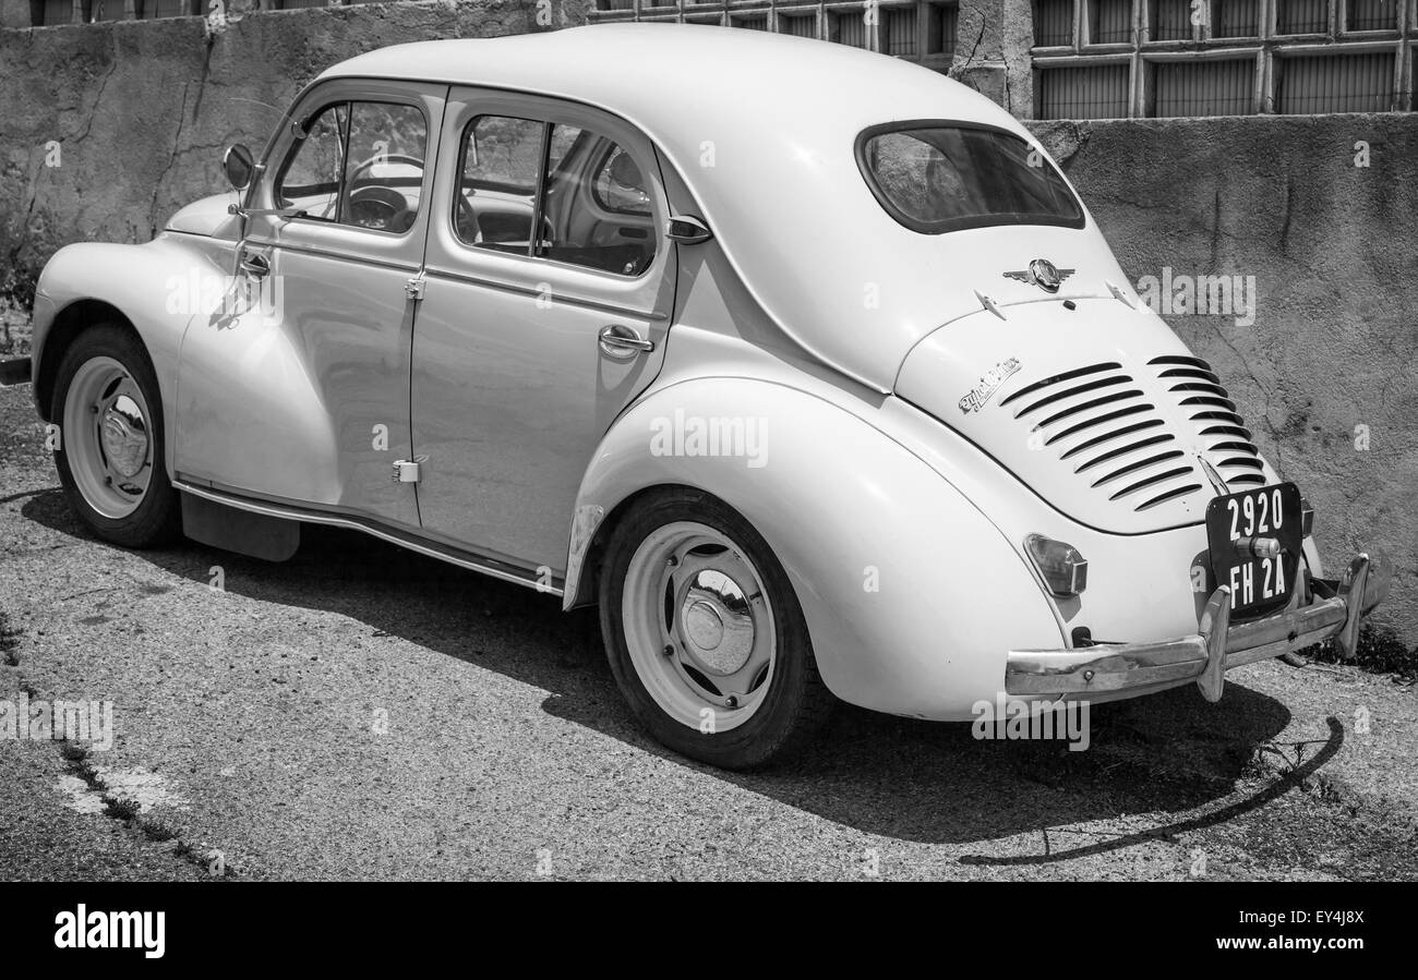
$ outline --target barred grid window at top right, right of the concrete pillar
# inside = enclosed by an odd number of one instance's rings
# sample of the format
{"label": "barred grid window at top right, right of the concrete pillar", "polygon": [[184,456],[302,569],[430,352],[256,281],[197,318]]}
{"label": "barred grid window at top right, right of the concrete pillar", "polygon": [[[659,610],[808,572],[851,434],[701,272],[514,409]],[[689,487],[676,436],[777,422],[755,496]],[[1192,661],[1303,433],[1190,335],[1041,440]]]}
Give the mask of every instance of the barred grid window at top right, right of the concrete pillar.
{"label": "barred grid window at top right, right of the concrete pillar", "polygon": [[1032,8],[1039,119],[1414,108],[1414,0],[1034,0]]}

